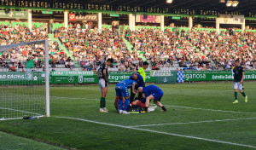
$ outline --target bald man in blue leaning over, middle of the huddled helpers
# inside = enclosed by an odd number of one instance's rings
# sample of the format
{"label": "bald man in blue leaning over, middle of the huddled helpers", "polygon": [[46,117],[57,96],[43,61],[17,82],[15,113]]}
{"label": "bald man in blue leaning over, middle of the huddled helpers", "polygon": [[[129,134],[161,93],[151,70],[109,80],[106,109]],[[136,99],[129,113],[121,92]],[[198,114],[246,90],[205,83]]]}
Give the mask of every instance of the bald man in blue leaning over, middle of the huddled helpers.
{"label": "bald man in blue leaning over, middle of the huddled helpers", "polygon": [[[136,81],[135,92],[137,92],[138,87],[145,87],[145,83],[144,83],[144,80],[143,80],[143,76],[142,76],[142,75],[137,74],[137,73],[132,73],[129,79],[132,79],[132,80],[135,80],[135,81]],[[131,91],[130,103],[134,100],[135,95],[136,95],[136,94],[134,94],[134,93]]]}

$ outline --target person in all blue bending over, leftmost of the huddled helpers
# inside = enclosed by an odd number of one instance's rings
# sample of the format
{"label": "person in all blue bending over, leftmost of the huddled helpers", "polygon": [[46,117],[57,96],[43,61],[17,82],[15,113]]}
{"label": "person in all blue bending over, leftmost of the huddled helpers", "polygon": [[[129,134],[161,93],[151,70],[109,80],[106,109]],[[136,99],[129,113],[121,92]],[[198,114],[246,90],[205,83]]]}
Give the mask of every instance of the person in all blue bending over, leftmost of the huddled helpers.
{"label": "person in all blue bending over, leftmost of the huddled helpers", "polygon": [[[128,89],[131,88],[131,91],[135,93],[136,82],[131,79],[125,79],[120,81],[115,85],[116,96],[119,96],[119,113],[129,114],[126,112],[127,107],[129,106],[130,98]],[[123,97],[125,97],[125,106],[123,107]]]}

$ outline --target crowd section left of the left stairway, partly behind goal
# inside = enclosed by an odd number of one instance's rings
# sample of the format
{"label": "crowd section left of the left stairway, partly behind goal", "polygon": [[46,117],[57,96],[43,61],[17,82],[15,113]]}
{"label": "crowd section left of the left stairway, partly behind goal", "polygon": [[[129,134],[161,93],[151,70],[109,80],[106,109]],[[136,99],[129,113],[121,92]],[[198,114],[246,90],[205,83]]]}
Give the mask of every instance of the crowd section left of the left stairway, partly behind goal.
{"label": "crowd section left of the left stairway, partly behind goal", "polygon": [[[12,43],[26,43],[47,39],[47,32],[43,26],[32,26],[30,31],[25,25],[0,25],[0,43],[7,45]],[[49,41],[49,65],[63,64],[72,67],[71,59],[63,54],[58,43]],[[44,45],[31,44],[9,49],[1,53],[0,67],[9,68],[9,71],[17,71],[22,68],[42,68],[44,67]]]}

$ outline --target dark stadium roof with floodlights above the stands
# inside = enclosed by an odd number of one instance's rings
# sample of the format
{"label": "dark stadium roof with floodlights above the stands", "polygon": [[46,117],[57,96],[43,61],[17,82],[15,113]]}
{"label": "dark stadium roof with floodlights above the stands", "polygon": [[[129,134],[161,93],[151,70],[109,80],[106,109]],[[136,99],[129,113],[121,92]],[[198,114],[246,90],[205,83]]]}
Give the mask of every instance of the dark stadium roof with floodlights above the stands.
{"label": "dark stadium roof with floodlights above the stands", "polygon": [[113,9],[119,6],[146,7],[146,8],[170,8],[170,9],[191,9],[191,10],[209,10],[223,13],[224,11],[240,11],[241,14],[256,13],[255,0],[237,0],[239,4],[236,8],[227,7],[226,2],[220,3],[220,0],[173,0],[167,4],[166,0],[55,0],[50,2],[61,3],[87,3],[87,4],[108,4]]}

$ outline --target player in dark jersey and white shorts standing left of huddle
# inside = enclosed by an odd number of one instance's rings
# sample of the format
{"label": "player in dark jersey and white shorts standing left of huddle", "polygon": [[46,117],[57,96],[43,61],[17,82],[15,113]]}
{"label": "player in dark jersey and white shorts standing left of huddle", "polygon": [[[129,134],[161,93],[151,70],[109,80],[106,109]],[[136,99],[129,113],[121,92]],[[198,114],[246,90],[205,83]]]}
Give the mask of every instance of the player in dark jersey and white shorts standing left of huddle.
{"label": "player in dark jersey and white shorts standing left of huddle", "polygon": [[108,92],[108,66],[111,66],[113,63],[113,59],[108,59],[106,63],[103,63],[99,66],[97,70],[97,76],[99,79],[99,86],[101,90],[101,101],[100,101],[100,113],[108,113],[108,109],[106,108],[106,95]]}

